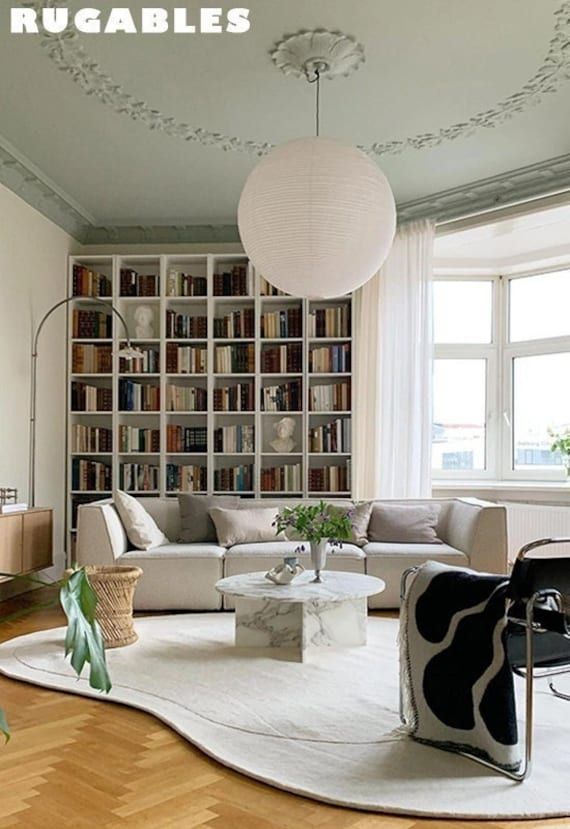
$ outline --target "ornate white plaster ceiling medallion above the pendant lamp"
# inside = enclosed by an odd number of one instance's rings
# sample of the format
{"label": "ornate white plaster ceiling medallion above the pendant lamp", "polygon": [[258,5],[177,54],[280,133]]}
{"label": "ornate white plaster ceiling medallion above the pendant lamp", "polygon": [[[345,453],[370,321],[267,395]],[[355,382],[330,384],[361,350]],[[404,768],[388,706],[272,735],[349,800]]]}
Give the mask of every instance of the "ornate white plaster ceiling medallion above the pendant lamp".
{"label": "ornate white plaster ceiling medallion above the pendant lamp", "polygon": [[313,77],[315,68],[321,78],[347,77],[364,63],[364,46],[342,32],[317,29],[289,35],[271,52],[275,65],[286,75]]}

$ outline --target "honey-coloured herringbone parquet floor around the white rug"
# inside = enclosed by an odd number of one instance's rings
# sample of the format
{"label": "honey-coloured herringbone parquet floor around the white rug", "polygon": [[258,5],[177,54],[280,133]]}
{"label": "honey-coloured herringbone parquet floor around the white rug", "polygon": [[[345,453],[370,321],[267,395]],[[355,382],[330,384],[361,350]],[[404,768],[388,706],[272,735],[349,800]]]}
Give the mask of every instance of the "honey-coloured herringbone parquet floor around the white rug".
{"label": "honey-coloured herringbone parquet floor around the white rug", "polygon": [[[29,601],[29,600],[28,600]],[[0,605],[0,618],[17,607]],[[62,624],[40,611],[0,639]],[[570,819],[460,822],[367,815],[279,792],[210,760],[153,717],[0,677],[0,829],[569,829]]]}

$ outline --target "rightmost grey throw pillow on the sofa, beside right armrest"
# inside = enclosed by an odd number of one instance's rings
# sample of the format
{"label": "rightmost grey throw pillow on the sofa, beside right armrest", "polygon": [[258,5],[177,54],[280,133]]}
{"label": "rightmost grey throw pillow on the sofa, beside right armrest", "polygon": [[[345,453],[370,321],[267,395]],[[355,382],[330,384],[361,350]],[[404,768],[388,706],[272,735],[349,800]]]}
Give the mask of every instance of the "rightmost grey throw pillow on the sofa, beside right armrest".
{"label": "rightmost grey throw pillow on the sofa, beside right armrest", "polygon": [[440,504],[374,504],[369,541],[441,544],[436,534]]}

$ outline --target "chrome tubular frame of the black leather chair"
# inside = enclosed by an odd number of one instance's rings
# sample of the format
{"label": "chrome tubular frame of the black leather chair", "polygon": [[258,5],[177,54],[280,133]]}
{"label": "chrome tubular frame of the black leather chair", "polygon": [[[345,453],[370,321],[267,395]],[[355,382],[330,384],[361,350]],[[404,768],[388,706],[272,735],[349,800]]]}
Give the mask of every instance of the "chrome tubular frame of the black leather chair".
{"label": "chrome tubular frame of the black leather chair", "polygon": [[[517,561],[522,561],[523,559],[527,558],[528,553],[530,553],[532,550],[535,550],[538,547],[545,547],[549,544],[570,544],[570,538],[540,538],[537,541],[532,541],[529,544],[525,544],[525,546],[521,547],[521,549],[519,550],[519,553],[517,555]],[[402,574],[402,580],[400,584],[400,598],[402,602],[404,601],[406,596],[408,579],[413,573],[417,572],[418,570],[419,567],[410,567],[407,570],[405,570]],[[545,602],[547,602],[548,600],[554,602],[557,612],[565,615],[565,633],[562,633],[560,635],[564,636],[565,639],[570,640],[570,626],[568,624],[568,616],[566,615],[568,613],[568,609],[564,607],[562,594],[558,590],[537,590],[535,593],[533,593],[532,596],[525,603],[524,619],[509,617],[509,611],[511,610],[514,602],[512,600],[508,600],[507,604],[508,621],[512,622],[513,624],[520,625],[525,629],[525,667],[518,668],[512,666],[513,673],[523,677],[525,680],[525,750],[521,770],[516,772],[509,771],[508,769],[501,768],[501,766],[497,766],[495,763],[492,763],[489,760],[484,760],[482,757],[478,757],[474,754],[471,754],[470,752],[456,752],[457,754],[460,754],[463,757],[467,757],[470,760],[474,760],[476,763],[479,763],[482,766],[486,766],[487,768],[490,768],[493,771],[496,771],[499,774],[502,774],[504,777],[508,777],[510,780],[514,780],[517,783],[522,783],[529,776],[532,770],[534,729],[534,680],[570,673],[570,662],[567,666],[564,667],[558,666],[553,668],[536,669],[534,667],[534,634],[548,633],[548,630],[546,628],[544,628],[541,624],[535,621],[535,611],[538,605],[544,606]],[[570,701],[570,695],[563,694],[561,691],[559,691],[555,687],[553,682],[549,682],[548,685],[551,692],[556,697],[558,697],[559,699]],[[400,683],[400,721],[404,725],[407,725],[404,717],[402,703],[402,688]]]}

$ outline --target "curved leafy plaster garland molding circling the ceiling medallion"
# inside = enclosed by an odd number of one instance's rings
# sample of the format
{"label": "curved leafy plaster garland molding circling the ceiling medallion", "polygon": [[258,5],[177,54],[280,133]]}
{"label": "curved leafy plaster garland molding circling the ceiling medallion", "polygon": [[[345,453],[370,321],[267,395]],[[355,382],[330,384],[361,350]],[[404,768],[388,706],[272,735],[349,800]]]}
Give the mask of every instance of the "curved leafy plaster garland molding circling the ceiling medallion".
{"label": "curved leafy plaster garland molding circling the ceiling medallion", "polygon": [[[41,13],[46,5],[63,6],[64,0],[27,0],[24,5]],[[41,14],[39,17],[41,18]],[[131,95],[89,57],[74,28],[68,27],[60,34],[51,34],[44,30],[41,44],[56,66],[70,75],[87,95],[97,98],[120,115],[125,115],[133,121],[140,121],[151,130],[158,130],[166,135],[182,138],[184,141],[215,147],[226,152],[262,156],[273,149],[273,145],[269,142],[242,139],[212,132],[203,127],[193,127]],[[513,116],[538,104],[545,95],[556,92],[569,79],[570,0],[565,0],[554,13],[554,31],[542,64],[532,78],[518,91],[489,109],[475,113],[456,124],[442,127],[436,132],[419,133],[390,141],[378,141],[368,147],[361,146],[360,149],[371,156],[379,157],[402,153],[408,149],[431,149],[447,141],[456,141],[472,135],[477,130],[499,126]]]}

